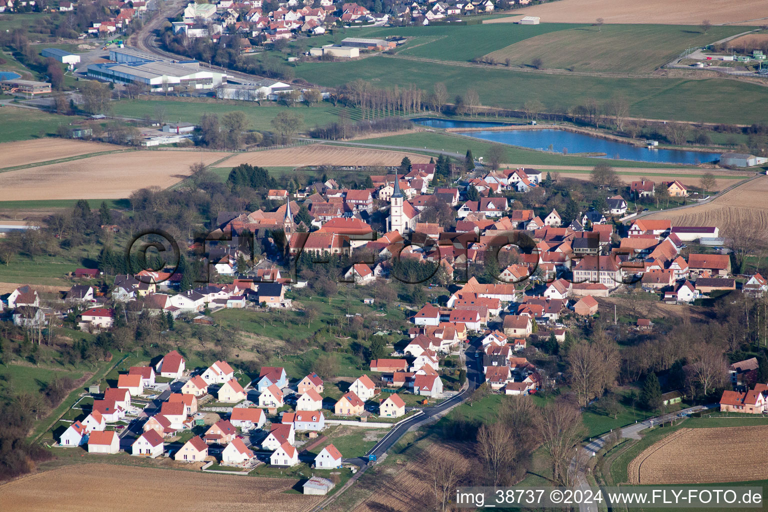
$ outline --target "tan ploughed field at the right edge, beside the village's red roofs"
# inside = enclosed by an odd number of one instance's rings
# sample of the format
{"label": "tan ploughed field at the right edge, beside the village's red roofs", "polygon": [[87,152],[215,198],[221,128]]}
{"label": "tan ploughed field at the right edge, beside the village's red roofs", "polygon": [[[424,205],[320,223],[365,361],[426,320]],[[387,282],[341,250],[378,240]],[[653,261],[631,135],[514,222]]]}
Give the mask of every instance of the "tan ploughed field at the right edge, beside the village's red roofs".
{"label": "tan ploughed field at the right edge, beside the village's red roofs", "polygon": [[710,203],[682,210],[654,213],[649,219],[670,219],[674,226],[719,226],[720,236],[729,236],[746,223],[768,243],[768,176],[757,177],[724,193]]}

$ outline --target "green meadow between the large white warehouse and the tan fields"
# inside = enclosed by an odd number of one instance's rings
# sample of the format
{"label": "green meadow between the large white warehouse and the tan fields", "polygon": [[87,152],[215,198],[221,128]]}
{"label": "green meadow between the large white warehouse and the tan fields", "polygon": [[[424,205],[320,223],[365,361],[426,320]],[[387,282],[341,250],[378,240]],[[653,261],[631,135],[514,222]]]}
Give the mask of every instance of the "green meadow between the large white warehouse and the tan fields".
{"label": "green meadow between the large white warehouse and the tan fields", "polygon": [[[272,130],[270,124],[277,114],[290,111],[303,118],[303,127],[311,128],[316,124],[323,125],[336,121],[342,107],[333,107],[326,101],[314,107],[285,107],[266,101],[263,106],[249,101],[186,101],[187,98],[168,98],[166,100],[121,100],[112,102],[112,111],[115,115],[124,117],[136,117],[138,119],[158,120],[158,109],[164,109],[164,121],[186,121],[197,123],[203,114],[217,114],[222,116],[227,112],[243,111],[248,117],[248,127],[253,130]],[[350,119],[358,121],[360,113],[357,109],[347,109]]]}

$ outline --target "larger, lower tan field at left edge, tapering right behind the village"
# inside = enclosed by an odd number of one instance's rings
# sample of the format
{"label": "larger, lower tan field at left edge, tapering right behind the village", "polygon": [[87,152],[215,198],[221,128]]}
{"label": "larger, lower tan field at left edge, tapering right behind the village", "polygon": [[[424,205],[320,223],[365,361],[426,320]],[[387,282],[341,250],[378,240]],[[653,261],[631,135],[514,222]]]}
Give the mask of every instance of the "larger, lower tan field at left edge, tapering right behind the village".
{"label": "larger, lower tan field at left edge, tapering right behind the village", "polygon": [[190,164],[211,164],[227,153],[131,151],[0,173],[0,201],[118,199],[144,187],[167,188]]}

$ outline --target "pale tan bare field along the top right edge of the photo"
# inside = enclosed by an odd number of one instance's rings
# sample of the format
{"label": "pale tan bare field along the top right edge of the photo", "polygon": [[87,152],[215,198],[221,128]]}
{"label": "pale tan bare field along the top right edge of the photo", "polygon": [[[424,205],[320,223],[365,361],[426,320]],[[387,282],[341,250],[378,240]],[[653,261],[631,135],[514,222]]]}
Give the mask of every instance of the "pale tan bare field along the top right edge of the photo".
{"label": "pale tan bare field along the top right edge of the photo", "polygon": [[603,18],[606,23],[658,23],[662,25],[698,25],[708,19],[713,24],[763,25],[768,18],[765,0],[561,0],[521,9],[510,18],[485,20],[484,23],[509,23],[522,16],[540,16],[548,23],[594,23]]}

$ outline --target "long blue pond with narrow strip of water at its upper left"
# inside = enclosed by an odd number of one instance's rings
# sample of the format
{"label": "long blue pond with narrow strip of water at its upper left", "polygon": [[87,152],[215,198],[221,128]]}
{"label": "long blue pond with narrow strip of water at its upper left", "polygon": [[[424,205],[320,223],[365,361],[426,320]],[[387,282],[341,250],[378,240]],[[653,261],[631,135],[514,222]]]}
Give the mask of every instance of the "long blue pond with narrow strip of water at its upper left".
{"label": "long blue pond with narrow strip of water at its upper left", "polygon": [[[447,121],[415,119],[415,123],[435,128],[483,128],[508,126],[506,123],[485,123],[482,121]],[[592,137],[587,134],[576,134],[565,130],[482,130],[463,132],[462,135],[476,139],[489,140],[512,146],[529,147],[536,150],[548,150],[550,145],[555,153],[562,153],[563,148],[573,153],[604,153],[603,158],[617,160],[637,160],[640,162],[656,162],[660,164],[700,164],[720,158],[719,153],[703,153],[701,151],[663,150],[637,147],[614,140]]]}

